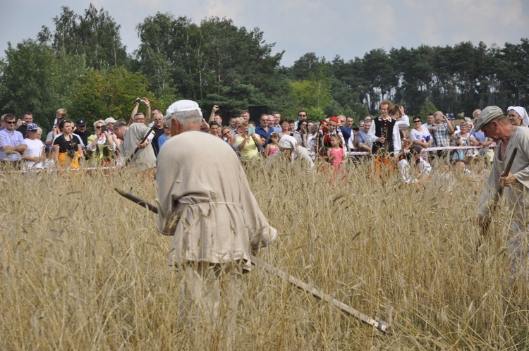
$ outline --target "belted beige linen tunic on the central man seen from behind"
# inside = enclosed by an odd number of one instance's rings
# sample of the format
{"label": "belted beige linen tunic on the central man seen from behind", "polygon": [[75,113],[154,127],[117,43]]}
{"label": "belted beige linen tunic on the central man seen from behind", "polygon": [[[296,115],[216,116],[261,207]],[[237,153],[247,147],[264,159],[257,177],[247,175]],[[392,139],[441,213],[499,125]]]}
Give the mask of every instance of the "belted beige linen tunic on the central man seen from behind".
{"label": "belted beige linen tunic on the central man seen from behind", "polygon": [[188,131],[167,140],[158,154],[157,184],[158,228],[175,235],[170,265],[243,260],[250,270],[250,247],[276,237],[236,153],[218,137]]}

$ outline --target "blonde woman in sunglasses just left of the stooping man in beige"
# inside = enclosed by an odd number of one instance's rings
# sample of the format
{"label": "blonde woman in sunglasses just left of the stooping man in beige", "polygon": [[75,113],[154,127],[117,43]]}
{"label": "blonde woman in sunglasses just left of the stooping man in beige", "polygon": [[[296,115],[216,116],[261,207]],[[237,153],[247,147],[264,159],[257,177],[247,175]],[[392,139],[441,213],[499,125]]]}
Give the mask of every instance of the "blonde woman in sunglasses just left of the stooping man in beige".
{"label": "blonde woman in sunglasses just left of the stooping man in beige", "polygon": [[116,143],[109,135],[107,125],[103,120],[94,122],[95,134],[88,137],[87,155],[90,156],[90,163],[99,166],[108,166],[116,152]]}

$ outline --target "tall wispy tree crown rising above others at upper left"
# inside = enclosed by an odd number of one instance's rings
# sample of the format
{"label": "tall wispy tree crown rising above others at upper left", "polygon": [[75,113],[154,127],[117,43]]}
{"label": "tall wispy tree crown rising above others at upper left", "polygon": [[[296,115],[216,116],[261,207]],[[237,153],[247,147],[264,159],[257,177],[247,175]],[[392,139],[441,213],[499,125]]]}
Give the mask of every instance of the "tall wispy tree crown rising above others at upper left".
{"label": "tall wispy tree crown rising above others at upper left", "polygon": [[51,44],[56,53],[85,56],[87,66],[95,69],[127,62],[119,35],[121,26],[103,8],[97,11],[90,4],[81,16],[62,6],[54,24],[54,32],[43,26],[37,39],[41,44]]}

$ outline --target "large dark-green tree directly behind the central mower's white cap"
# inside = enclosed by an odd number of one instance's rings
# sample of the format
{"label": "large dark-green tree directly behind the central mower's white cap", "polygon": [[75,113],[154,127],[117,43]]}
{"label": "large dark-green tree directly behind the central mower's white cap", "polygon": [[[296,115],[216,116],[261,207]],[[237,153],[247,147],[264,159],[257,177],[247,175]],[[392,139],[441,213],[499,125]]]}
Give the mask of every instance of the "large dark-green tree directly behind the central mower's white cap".
{"label": "large dark-green tree directly behind the central mower's white cap", "polygon": [[174,94],[217,103],[233,113],[249,104],[271,102],[286,92],[279,61],[257,28],[206,18],[195,25],[186,17],[157,13],[137,27],[142,41],[136,57],[155,94]]}

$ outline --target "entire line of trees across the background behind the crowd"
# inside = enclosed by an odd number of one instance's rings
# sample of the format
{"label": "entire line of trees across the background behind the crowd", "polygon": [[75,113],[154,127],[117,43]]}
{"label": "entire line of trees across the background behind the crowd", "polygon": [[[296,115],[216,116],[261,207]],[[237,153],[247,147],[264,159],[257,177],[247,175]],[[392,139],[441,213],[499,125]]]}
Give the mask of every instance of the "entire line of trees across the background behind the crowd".
{"label": "entire line of trees across the background behind the crowd", "polygon": [[32,111],[44,128],[59,107],[89,122],[124,118],[135,97],[144,96],[162,111],[176,99],[193,99],[203,109],[221,105],[224,118],[251,105],[288,117],[305,109],[313,119],[358,120],[377,113],[383,99],[413,115],[441,109],[469,116],[490,104],[529,104],[527,38],[504,47],[372,49],[348,61],[311,52],[285,67],[284,51],[272,54],[263,32],[226,18],[197,25],[171,13],[149,16],[136,26],[141,44],[132,54],[104,8],[90,4],[78,14],[63,6],[53,22],[35,39],[10,43],[0,62],[2,113]]}

